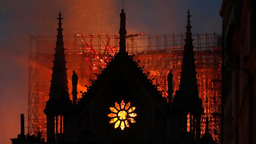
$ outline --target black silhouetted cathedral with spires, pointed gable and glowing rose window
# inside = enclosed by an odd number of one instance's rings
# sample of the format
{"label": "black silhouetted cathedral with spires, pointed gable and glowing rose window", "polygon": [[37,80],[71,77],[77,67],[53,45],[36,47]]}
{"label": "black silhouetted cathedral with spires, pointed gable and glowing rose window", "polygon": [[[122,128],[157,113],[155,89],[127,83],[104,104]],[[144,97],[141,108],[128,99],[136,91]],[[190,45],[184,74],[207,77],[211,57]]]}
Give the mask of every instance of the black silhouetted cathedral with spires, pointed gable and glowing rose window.
{"label": "black silhouetted cathedral with spires, pointed gable and glowing rose window", "polygon": [[[169,103],[143,73],[143,68],[138,67],[133,56],[126,52],[126,16],[123,10],[120,14],[119,52],[101,74],[96,74],[97,78],[87,86],[81,99],[77,99],[78,77],[73,72],[72,103],[59,14],[50,94],[44,110],[47,143],[214,143],[208,128],[201,139],[203,108],[198,96],[190,17],[188,11],[180,86],[173,100],[173,75],[171,72],[168,75]],[[12,139],[13,143],[21,141],[28,142],[26,139]]]}

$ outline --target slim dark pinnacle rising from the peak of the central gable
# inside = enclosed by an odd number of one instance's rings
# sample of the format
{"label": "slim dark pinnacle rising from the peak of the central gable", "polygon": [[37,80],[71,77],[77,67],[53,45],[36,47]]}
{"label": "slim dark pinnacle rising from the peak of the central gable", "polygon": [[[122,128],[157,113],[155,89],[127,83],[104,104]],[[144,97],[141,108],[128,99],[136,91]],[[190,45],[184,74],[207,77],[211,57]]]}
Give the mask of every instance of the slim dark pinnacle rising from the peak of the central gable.
{"label": "slim dark pinnacle rising from the peak of the central gable", "polygon": [[119,35],[120,35],[120,49],[119,52],[120,53],[125,53],[126,52],[126,48],[125,48],[125,35],[126,35],[126,29],[125,29],[125,13],[124,13],[124,9],[121,10],[120,13],[120,29],[119,29]]}

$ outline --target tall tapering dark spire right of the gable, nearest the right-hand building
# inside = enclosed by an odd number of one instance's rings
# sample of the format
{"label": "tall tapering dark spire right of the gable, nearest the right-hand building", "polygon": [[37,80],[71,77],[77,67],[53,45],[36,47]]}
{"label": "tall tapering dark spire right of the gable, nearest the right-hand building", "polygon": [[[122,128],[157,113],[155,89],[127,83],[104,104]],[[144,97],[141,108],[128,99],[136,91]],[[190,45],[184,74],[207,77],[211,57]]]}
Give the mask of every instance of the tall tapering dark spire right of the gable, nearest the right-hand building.
{"label": "tall tapering dark spire right of the gable, nearest the right-hand building", "polygon": [[[187,15],[187,26],[186,26],[186,39],[183,52],[182,66],[181,66],[181,78],[179,91],[182,93],[183,102],[186,103],[186,106],[189,111],[201,113],[202,104],[200,104],[198,96],[198,86],[196,78],[196,65],[193,51],[193,39],[191,33],[190,25],[190,12],[188,10]],[[194,106],[196,105],[197,108]],[[200,110],[199,110],[200,109]]]}

